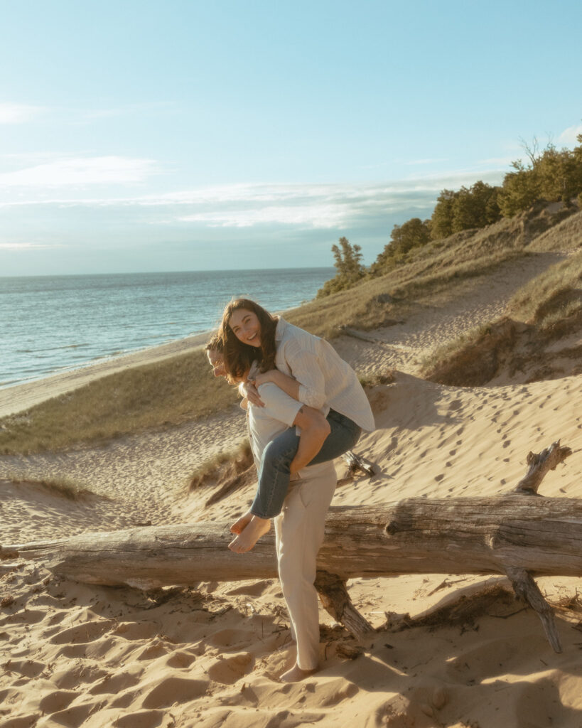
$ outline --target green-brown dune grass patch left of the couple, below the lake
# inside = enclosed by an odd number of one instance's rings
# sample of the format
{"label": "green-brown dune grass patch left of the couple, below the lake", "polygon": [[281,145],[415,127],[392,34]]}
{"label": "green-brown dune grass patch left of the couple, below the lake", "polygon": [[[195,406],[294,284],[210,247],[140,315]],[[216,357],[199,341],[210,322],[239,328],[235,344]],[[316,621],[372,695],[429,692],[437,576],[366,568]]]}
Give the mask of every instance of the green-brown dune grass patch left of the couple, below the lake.
{"label": "green-brown dune grass patch left of the couple, below the lake", "polygon": [[202,349],[110,374],[0,420],[0,452],[39,452],[178,425],[227,408],[236,392]]}

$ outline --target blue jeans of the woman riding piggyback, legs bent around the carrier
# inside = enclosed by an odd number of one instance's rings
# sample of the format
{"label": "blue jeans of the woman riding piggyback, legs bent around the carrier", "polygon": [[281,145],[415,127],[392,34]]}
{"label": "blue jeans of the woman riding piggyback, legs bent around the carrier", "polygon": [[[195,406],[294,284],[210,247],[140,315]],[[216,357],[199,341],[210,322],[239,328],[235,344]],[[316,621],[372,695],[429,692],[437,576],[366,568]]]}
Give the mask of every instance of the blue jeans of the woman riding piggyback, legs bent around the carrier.
{"label": "blue jeans of the woman riding piggyback, legs bent around the carrier", "polygon": [[[331,432],[310,465],[327,462],[343,455],[354,447],[362,434],[361,427],[335,410],[330,410],[327,422],[330,424]],[[259,518],[274,518],[281,513],[289,489],[291,461],[297,454],[298,447],[299,437],[295,435],[295,427],[290,427],[268,443],[260,462],[257,494],[250,507],[252,515],[258,515]]]}

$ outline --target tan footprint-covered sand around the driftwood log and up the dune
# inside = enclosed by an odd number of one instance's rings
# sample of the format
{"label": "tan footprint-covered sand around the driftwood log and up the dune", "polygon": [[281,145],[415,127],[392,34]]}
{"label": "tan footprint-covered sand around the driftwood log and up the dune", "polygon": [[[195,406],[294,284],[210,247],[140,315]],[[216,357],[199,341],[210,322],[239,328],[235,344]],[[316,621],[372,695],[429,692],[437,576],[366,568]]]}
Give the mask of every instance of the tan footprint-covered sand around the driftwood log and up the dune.
{"label": "tan footprint-covered sand around the driftwood log and up the dune", "polygon": [[[513,285],[496,283],[493,308]],[[459,303],[455,313],[447,304],[449,323],[439,329],[438,309],[425,311],[423,336],[418,312],[408,322],[411,335],[402,325],[398,340],[388,342],[406,347],[404,355],[396,360],[394,383],[375,387],[378,429],[357,448],[380,472],[338,486],[334,505],[500,494],[524,474],[528,451],[557,439],[573,455],[546,476],[541,493],[582,496],[582,376],[479,388],[418,378],[415,361],[435,339],[440,343],[479,319],[486,285],[480,295],[474,316],[466,315],[467,306]],[[381,339],[387,331],[372,336]],[[353,338],[338,344],[354,363],[362,347],[370,371],[394,365],[385,346]],[[189,494],[186,483],[196,464],[243,436],[242,416],[233,408],[101,448],[4,457],[0,478],[67,475],[94,494],[71,502],[43,486],[1,481],[1,542],[148,521],[234,518],[252,485],[204,509],[211,491]],[[343,475],[341,462],[337,467]],[[508,584],[502,577],[354,579],[351,596],[378,628],[375,637],[349,659],[346,645],[354,652],[354,641],[321,610],[322,670],[302,683],[282,684],[278,676],[295,655],[276,580],[205,582],[145,594],[63,581],[41,563],[19,561],[11,568],[0,571],[8,572],[0,578],[0,728],[582,725],[578,579],[538,579],[557,605],[561,654],[551,650],[531,609],[503,590],[487,598],[487,590]],[[477,594],[474,619],[464,624],[386,626],[386,612],[415,617],[461,594]]]}

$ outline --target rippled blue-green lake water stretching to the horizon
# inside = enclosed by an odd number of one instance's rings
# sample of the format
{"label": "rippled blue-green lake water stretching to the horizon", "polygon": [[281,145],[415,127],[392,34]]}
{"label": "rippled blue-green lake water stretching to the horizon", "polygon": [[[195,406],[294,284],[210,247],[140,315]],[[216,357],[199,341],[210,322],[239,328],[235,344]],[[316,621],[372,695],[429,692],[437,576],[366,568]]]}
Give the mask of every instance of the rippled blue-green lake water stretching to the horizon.
{"label": "rippled blue-green lake water stretching to the horizon", "polygon": [[233,296],[309,301],[332,268],[0,277],[0,387],[210,331]]}

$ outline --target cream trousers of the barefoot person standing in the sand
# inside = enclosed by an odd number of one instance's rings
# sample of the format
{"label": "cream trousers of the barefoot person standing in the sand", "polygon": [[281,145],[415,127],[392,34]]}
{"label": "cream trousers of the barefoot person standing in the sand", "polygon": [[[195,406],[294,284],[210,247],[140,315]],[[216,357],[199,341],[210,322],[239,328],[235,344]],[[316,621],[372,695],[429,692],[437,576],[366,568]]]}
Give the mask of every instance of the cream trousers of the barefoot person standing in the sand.
{"label": "cream trousers of the barefoot person standing in the sand", "polygon": [[337,478],[331,462],[303,472],[305,477],[291,481],[282,511],[275,518],[275,542],[291,635],[297,642],[297,664],[302,670],[314,670],[319,662],[316,559]]}

